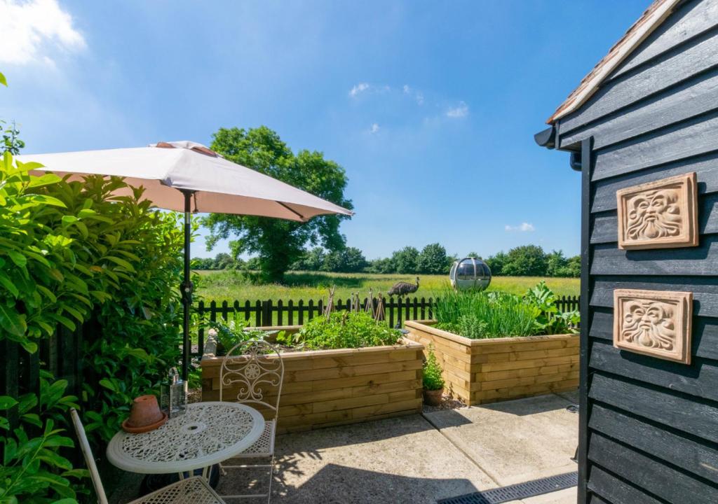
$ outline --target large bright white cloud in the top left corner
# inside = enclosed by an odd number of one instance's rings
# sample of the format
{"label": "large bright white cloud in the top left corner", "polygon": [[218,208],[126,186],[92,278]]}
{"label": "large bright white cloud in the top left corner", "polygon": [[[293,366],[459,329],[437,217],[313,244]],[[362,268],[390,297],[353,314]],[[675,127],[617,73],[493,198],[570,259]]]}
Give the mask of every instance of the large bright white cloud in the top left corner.
{"label": "large bright white cloud in the top left corner", "polygon": [[75,27],[73,17],[60,8],[57,0],[0,0],[0,62],[27,65],[42,62],[54,66],[47,53],[84,49],[85,38]]}

